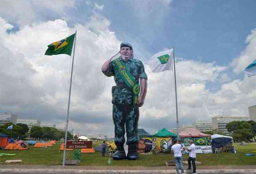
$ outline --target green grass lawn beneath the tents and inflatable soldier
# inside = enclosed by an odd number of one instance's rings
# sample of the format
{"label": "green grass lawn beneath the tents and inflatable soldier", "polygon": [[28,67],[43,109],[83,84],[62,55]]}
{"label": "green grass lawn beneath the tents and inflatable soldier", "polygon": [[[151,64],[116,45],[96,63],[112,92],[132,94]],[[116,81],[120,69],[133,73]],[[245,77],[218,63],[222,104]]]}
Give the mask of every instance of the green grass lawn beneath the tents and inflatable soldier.
{"label": "green grass lawn beneath the tents and inflatable soldier", "polygon": [[[94,146],[102,142],[94,142]],[[14,156],[0,156],[0,164],[4,164],[9,159],[22,159],[23,165],[61,165],[63,151],[59,152],[61,143],[53,145],[53,147],[39,148],[29,147],[29,150],[0,150],[0,153],[16,154]],[[202,162],[204,166],[214,165],[256,165],[256,156],[245,156],[246,153],[254,153],[256,144],[247,143],[247,146],[239,146],[239,143],[234,143],[236,154],[196,154],[196,161]],[[140,160],[136,161],[116,161],[112,160],[111,165],[117,166],[164,166],[165,160],[173,159],[173,155],[140,155]],[[184,160],[188,155],[184,156]],[[72,151],[67,151],[67,159],[72,159]],[[100,152],[93,154],[82,153],[80,165],[105,166],[109,157],[101,157]]]}

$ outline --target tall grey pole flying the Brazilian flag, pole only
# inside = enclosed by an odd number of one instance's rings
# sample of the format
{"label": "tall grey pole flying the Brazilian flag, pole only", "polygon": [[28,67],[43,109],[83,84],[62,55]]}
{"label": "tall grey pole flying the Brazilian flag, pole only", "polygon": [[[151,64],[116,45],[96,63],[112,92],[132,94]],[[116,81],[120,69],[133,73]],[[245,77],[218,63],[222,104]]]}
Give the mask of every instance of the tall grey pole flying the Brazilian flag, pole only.
{"label": "tall grey pole flying the Brazilian flag, pole only", "polygon": [[75,36],[74,51],[73,51],[73,60],[72,60],[72,68],[71,68],[71,77],[70,77],[70,85],[69,85],[69,96],[68,96],[68,106],[67,106],[67,120],[66,120],[66,127],[65,127],[65,141],[64,141],[64,154],[63,154],[62,167],[65,167],[65,158],[66,158],[67,128],[68,128],[69,105],[70,105],[70,94],[71,94],[71,84],[72,84],[72,75],[73,75],[73,65],[74,65],[75,48],[76,48],[76,36]]}

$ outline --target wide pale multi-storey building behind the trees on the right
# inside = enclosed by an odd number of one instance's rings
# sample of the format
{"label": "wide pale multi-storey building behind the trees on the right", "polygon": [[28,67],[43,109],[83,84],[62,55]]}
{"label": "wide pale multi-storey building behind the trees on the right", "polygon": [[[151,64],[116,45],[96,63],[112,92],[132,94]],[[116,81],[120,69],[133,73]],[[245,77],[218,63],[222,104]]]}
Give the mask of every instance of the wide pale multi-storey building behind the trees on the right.
{"label": "wide pale multi-storey building behind the trees on the right", "polygon": [[229,135],[229,132],[226,129],[226,125],[232,121],[250,121],[250,117],[212,117],[213,129],[218,129],[222,131],[224,134]]}

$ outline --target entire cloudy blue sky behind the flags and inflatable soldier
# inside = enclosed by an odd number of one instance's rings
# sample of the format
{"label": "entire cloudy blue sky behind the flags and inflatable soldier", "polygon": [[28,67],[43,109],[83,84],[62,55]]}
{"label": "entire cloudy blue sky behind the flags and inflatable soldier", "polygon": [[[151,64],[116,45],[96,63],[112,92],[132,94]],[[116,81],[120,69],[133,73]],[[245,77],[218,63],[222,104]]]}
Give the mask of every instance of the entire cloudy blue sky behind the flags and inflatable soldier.
{"label": "entire cloudy blue sky behind the flags and inflatable soldier", "polygon": [[[22,6],[22,8],[20,8]],[[256,76],[256,2],[185,0],[3,0],[0,6],[0,112],[64,126],[71,58],[45,56],[47,45],[77,31],[69,128],[113,136],[113,77],[102,64],[121,42],[135,59],[175,48],[180,125],[214,116],[249,116]],[[174,73],[152,73],[139,128],[176,127]]]}

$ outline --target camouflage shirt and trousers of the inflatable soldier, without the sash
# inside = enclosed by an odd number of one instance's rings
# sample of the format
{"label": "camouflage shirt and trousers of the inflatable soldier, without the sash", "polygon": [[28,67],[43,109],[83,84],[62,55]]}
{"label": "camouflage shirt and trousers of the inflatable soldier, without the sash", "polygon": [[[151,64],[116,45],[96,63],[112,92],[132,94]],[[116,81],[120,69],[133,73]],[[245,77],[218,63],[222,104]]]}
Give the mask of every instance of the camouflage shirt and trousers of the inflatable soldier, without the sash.
{"label": "camouflage shirt and trousers of the inflatable soldier, without the sash", "polygon": [[[124,63],[126,71],[130,71],[130,73],[134,76],[137,83],[139,83],[139,78],[147,79],[147,75],[144,70],[144,65],[140,60],[122,60],[121,57],[119,57],[118,59],[119,61],[122,61]],[[129,145],[131,143],[138,143],[139,107],[133,105],[132,89],[129,88],[122,80],[119,72],[115,68],[115,64],[113,61],[111,61],[109,68],[104,74],[108,77],[114,76],[114,80],[116,83],[116,86],[112,87],[112,116],[115,125],[114,141],[115,143],[118,144],[124,144],[124,134],[126,128],[126,144]]]}

